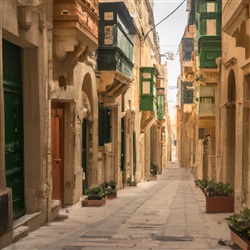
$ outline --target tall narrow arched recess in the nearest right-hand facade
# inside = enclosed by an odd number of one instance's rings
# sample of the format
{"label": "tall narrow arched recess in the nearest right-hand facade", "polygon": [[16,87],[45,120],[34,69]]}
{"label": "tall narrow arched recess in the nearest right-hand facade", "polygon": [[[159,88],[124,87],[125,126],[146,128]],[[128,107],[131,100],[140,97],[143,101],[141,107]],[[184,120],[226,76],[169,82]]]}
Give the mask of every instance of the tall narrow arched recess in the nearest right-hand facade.
{"label": "tall narrow arched recess in the nearest right-hand facade", "polygon": [[226,181],[234,187],[235,176],[235,104],[236,82],[233,70],[228,76],[227,132],[226,132]]}

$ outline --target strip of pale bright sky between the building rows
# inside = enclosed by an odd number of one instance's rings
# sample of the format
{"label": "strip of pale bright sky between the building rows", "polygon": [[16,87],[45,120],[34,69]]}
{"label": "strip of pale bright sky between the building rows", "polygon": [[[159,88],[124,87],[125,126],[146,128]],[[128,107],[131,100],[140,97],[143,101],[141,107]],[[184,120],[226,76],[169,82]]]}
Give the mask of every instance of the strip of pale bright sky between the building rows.
{"label": "strip of pale bright sky between the building rows", "polygon": [[[155,0],[154,17],[157,25],[173,10],[175,10],[183,0]],[[167,60],[168,70],[168,101],[171,120],[175,118],[175,106],[177,95],[177,77],[180,74],[180,62],[178,47],[187,25],[188,12],[186,11],[186,2],[169,18],[156,27],[156,32],[160,37],[161,54],[173,52],[175,59]],[[166,58],[162,57],[162,62]]]}

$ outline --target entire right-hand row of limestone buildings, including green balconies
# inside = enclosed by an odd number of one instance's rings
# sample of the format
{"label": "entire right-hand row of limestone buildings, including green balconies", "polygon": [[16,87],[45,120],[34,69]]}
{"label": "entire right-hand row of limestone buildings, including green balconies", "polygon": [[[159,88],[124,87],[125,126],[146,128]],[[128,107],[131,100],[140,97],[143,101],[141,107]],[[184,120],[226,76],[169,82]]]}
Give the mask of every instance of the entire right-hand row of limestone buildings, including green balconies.
{"label": "entire right-hand row of limestone buildings, including green balconies", "polygon": [[[180,163],[197,179],[230,183],[235,190],[235,210],[239,211],[250,205],[249,1],[188,1],[188,9],[189,23],[183,39],[191,30],[190,24],[196,24],[198,32],[191,59],[195,70],[186,74],[186,62],[181,61]],[[204,30],[209,34],[204,34]],[[183,40],[180,47],[183,48]],[[184,53],[186,50],[187,47],[182,49]],[[187,94],[183,85],[188,77],[191,83],[187,88],[193,91],[194,104],[190,111],[183,103]]]}

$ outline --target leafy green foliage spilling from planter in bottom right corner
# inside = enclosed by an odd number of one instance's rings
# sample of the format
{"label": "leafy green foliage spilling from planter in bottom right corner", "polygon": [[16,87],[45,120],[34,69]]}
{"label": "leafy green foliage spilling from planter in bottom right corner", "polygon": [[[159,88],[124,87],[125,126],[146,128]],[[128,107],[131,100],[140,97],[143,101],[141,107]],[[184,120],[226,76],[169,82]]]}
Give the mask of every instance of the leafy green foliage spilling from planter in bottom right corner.
{"label": "leafy green foliage spilling from planter in bottom right corner", "polygon": [[229,227],[241,237],[250,241],[250,209],[245,208],[226,218]]}

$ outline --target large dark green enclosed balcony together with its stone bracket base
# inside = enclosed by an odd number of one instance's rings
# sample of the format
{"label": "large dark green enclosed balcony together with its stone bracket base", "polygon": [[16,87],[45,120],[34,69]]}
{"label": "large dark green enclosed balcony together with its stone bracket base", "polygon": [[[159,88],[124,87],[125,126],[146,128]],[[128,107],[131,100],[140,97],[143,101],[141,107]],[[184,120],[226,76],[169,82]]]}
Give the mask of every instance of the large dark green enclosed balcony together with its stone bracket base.
{"label": "large dark green enclosed balcony together with its stone bracket base", "polygon": [[132,83],[137,30],[124,2],[100,2],[99,11],[98,91],[104,98],[116,98]]}

